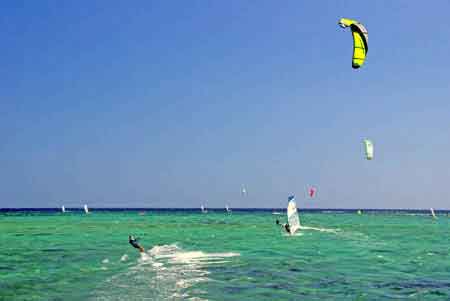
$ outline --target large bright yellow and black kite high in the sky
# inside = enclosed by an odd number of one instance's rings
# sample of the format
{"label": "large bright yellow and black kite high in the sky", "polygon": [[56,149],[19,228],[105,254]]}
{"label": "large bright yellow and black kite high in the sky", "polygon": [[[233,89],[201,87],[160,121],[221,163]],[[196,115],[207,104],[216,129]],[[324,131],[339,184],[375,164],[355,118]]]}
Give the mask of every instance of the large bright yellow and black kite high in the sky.
{"label": "large bright yellow and black kite high in the sky", "polygon": [[369,51],[369,33],[367,29],[355,20],[342,18],[339,20],[339,26],[342,28],[350,27],[353,35],[353,69],[360,68],[366,60],[367,52]]}

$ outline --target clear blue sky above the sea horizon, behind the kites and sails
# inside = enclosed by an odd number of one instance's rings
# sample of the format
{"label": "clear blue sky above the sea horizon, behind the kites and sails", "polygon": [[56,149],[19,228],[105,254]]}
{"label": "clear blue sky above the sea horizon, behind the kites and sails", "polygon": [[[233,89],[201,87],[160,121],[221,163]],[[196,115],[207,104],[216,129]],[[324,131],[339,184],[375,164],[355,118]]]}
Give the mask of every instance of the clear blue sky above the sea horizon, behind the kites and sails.
{"label": "clear blue sky above the sea horizon, behind the kites and sails", "polygon": [[[449,209],[449,12],[2,1],[0,207],[282,207],[296,194],[307,208]],[[341,17],[369,31],[359,70]]]}

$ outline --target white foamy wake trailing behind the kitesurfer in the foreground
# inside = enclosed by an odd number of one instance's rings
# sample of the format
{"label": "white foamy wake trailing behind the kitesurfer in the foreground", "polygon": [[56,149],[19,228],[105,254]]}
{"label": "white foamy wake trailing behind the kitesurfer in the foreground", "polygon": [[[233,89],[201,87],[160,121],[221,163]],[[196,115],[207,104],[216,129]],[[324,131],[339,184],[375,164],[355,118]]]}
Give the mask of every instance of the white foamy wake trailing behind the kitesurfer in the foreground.
{"label": "white foamy wake trailing behind the kitesurfer in the foreground", "polygon": [[184,251],[176,244],[155,246],[140,253],[125,273],[109,278],[93,300],[205,300],[205,292],[193,286],[209,281],[208,266],[227,264],[236,256],[240,254]]}

